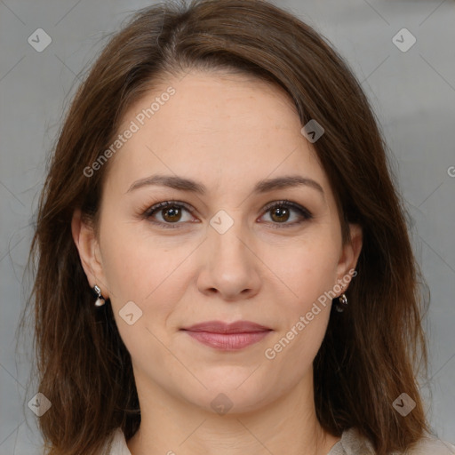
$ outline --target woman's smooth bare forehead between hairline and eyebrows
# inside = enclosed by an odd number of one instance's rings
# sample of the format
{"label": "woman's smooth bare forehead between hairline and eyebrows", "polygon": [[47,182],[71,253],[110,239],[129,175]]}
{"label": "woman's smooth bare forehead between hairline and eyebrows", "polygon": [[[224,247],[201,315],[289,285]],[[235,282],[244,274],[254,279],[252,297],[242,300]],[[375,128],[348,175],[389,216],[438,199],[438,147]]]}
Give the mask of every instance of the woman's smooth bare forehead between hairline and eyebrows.
{"label": "woman's smooth bare forehead between hairline and eyebrows", "polygon": [[129,128],[136,131],[109,163],[108,180],[124,191],[155,172],[209,189],[289,173],[327,186],[290,98],[259,79],[196,71],[170,78],[129,108],[118,133]]}

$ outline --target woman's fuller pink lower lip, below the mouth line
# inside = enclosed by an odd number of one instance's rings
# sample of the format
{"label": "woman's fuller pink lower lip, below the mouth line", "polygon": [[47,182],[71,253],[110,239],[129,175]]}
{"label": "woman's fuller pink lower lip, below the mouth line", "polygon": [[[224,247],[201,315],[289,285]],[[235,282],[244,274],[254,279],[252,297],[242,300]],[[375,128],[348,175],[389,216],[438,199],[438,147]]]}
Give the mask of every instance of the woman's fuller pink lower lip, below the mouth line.
{"label": "woman's fuller pink lower lip, below the mouth line", "polygon": [[270,331],[253,331],[246,333],[213,333],[212,331],[186,331],[190,337],[206,346],[223,351],[235,351],[257,343]]}

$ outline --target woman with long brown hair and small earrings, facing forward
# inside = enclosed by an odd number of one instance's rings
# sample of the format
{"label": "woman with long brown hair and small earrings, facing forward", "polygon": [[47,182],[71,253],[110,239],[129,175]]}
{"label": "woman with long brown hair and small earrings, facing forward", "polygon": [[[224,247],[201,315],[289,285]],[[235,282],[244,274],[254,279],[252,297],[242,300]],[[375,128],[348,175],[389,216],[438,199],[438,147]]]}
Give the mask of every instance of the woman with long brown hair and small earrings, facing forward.
{"label": "woman with long brown hair and small earrings, facing forward", "polygon": [[272,4],[159,4],[112,38],[31,252],[50,455],[454,452],[375,117]]}

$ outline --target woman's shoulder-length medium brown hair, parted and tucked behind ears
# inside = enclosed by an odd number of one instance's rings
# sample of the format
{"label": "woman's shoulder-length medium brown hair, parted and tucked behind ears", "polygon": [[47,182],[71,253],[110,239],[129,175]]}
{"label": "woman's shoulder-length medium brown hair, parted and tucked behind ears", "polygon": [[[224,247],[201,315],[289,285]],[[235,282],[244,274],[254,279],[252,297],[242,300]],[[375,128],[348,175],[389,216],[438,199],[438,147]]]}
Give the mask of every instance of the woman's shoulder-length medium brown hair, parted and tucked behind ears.
{"label": "woman's shoulder-length medium brown hair, parted and tucked behind ears", "polygon": [[[333,435],[357,427],[377,453],[404,451],[428,431],[417,374],[427,374],[424,299],[387,146],[361,85],[328,40],[289,12],[261,0],[162,3],[137,12],[114,36],[80,86],[52,155],[30,251],[35,265],[39,391],[52,408],[39,426],[50,455],[94,455],[121,427],[140,426],[131,357],[110,305],[96,308],[71,220],[95,225],[108,163],[84,168],[109,147],[132,103],[166,76],[192,68],[226,70],[281,87],[301,125],[315,119],[313,147],[348,223],[363,229],[348,309],[331,311],[315,357],[317,418]],[[302,136],[302,140],[303,136]],[[405,418],[392,406],[405,392]]]}

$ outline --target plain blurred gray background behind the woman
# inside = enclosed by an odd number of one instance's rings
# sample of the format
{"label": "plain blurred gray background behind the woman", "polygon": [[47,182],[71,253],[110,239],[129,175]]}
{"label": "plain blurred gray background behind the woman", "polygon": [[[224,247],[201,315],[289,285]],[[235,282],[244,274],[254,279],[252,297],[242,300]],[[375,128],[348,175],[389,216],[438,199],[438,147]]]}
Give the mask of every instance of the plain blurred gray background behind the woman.
{"label": "plain blurred gray background behind the woman", "polygon": [[[362,81],[393,151],[399,188],[413,224],[415,251],[432,297],[427,323],[431,381],[421,390],[436,435],[453,443],[455,3],[276,3],[307,20],[345,57]],[[78,75],[121,21],[148,4],[0,0],[0,455],[37,454],[41,441],[37,418],[27,407],[37,391],[25,388],[29,348],[20,347],[16,355],[15,347],[29,285],[23,281],[24,265],[46,156]],[[37,28],[52,37],[43,52],[28,44],[28,36]],[[402,28],[417,39],[407,52],[392,41]]]}

